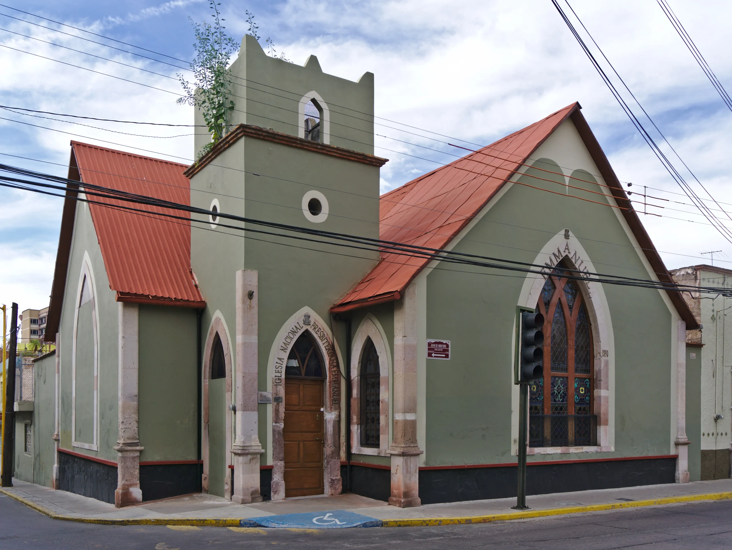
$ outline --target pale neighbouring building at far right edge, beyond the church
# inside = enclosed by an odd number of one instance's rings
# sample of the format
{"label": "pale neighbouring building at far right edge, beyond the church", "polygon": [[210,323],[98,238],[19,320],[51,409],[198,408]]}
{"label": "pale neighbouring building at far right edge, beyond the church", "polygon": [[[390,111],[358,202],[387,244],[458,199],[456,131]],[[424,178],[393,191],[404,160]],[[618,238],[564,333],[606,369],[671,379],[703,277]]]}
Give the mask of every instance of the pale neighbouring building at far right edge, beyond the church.
{"label": "pale neighbouring building at far right edge, beyond the church", "polygon": [[[674,280],[689,286],[716,286],[731,289],[732,270],[711,265],[681,267],[671,272]],[[730,477],[730,455],[732,453],[732,317],[730,321],[730,342],[727,343],[727,317],[730,316],[732,300],[723,294],[701,294],[684,292],[684,300],[699,323],[698,330],[687,331],[687,354],[690,360],[698,360],[700,380],[698,398],[692,395],[687,385],[687,402],[698,399],[699,409],[693,411],[698,417],[698,426],[692,426],[687,417],[689,431],[699,434],[698,452],[693,457],[699,464],[699,477],[713,480]],[[690,361],[690,365],[692,362]],[[692,376],[687,374],[687,384]],[[696,448],[692,441],[690,452]],[[690,464],[692,457],[690,456]],[[690,468],[691,471],[691,468]]]}

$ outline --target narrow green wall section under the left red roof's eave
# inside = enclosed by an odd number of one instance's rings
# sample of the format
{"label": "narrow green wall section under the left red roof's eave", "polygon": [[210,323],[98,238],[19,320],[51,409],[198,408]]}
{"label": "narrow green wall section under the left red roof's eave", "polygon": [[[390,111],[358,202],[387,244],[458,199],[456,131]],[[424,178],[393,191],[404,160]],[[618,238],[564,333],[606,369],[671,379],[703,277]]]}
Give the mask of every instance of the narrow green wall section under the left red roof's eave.
{"label": "narrow green wall section under the left red roof's eave", "polygon": [[196,312],[140,305],[138,323],[140,460],[195,460]]}

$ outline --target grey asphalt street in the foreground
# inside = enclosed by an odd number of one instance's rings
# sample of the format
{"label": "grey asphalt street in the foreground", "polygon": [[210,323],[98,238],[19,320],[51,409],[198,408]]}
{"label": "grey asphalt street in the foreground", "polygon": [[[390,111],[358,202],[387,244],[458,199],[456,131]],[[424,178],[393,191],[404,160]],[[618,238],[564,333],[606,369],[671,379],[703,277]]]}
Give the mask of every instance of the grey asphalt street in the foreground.
{"label": "grey asphalt street in the foreground", "polygon": [[[277,545],[277,546],[273,546]],[[0,549],[729,549],[732,502],[449,527],[116,527],[49,519],[0,495]]]}

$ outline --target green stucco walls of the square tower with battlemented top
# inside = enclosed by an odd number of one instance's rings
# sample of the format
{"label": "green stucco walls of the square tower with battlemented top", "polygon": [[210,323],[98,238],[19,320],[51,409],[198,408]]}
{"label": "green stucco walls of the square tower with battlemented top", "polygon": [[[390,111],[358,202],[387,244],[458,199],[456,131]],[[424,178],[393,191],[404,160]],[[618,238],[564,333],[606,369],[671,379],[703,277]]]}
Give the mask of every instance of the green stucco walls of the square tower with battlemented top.
{"label": "green stucco walls of the square tower with battlemented top", "polygon": [[[297,105],[302,94],[315,90],[326,104],[341,106],[331,110],[331,144],[373,153],[373,119],[370,118],[373,75],[369,73],[359,83],[346,81],[322,73],[315,64],[300,67],[264,56],[252,40],[250,37],[244,40],[242,53],[234,62],[232,72],[246,76],[250,81],[300,91],[287,94],[285,99],[273,99],[272,94],[267,94],[266,100],[275,102],[272,105],[283,102],[276,114],[272,114],[271,105],[257,103],[262,98],[255,97],[252,88],[238,86],[236,94],[254,95],[247,102],[234,98],[239,102],[232,115],[234,123],[273,127],[279,132],[297,135]],[[348,133],[344,129],[344,125],[354,126],[348,116],[335,112],[347,110],[344,106],[362,113],[359,115],[362,120],[355,123],[362,127],[361,130],[348,130],[351,132]],[[247,111],[246,116],[240,109]],[[272,122],[268,117],[284,122]],[[201,145],[197,142],[197,146]],[[375,166],[245,137],[193,176],[191,188],[195,207],[209,209],[212,199],[218,198],[222,212],[378,238],[379,169]],[[329,215],[324,223],[312,223],[302,212],[302,197],[309,190],[318,190],[326,196]],[[234,225],[270,231],[252,223]],[[201,336],[205,340],[214,313],[219,311],[228,334],[234,337],[236,271],[258,271],[259,390],[266,391],[267,361],[272,343],[283,324],[300,308],[313,308],[332,327],[339,349],[345,349],[343,327],[338,326],[342,323],[332,321],[329,308],[376,265],[378,254],[274,235],[247,233],[246,239],[243,236],[243,231],[220,226],[213,231],[209,226],[193,227],[191,263],[207,303],[201,319]],[[201,345],[204,346],[205,341]],[[230,345],[234,349],[233,341]],[[232,363],[236,376],[236,357],[232,357]],[[340,366],[343,369],[343,365]],[[266,423],[268,406],[259,406],[263,445],[271,431]],[[262,456],[262,463],[266,464],[266,455]]]}

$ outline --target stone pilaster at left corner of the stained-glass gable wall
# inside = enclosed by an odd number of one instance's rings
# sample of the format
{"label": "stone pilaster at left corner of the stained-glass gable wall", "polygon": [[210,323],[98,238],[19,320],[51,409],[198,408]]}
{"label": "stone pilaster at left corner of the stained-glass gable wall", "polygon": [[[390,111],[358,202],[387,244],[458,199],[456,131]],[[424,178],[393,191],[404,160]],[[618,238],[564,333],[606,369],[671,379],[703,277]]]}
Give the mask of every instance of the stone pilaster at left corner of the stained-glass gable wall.
{"label": "stone pilaster at left corner of the stained-glass gable wall", "polygon": [[417,445],[417,285],[411,283],[394,305],[394,438],[389,504],[419,506]]}

